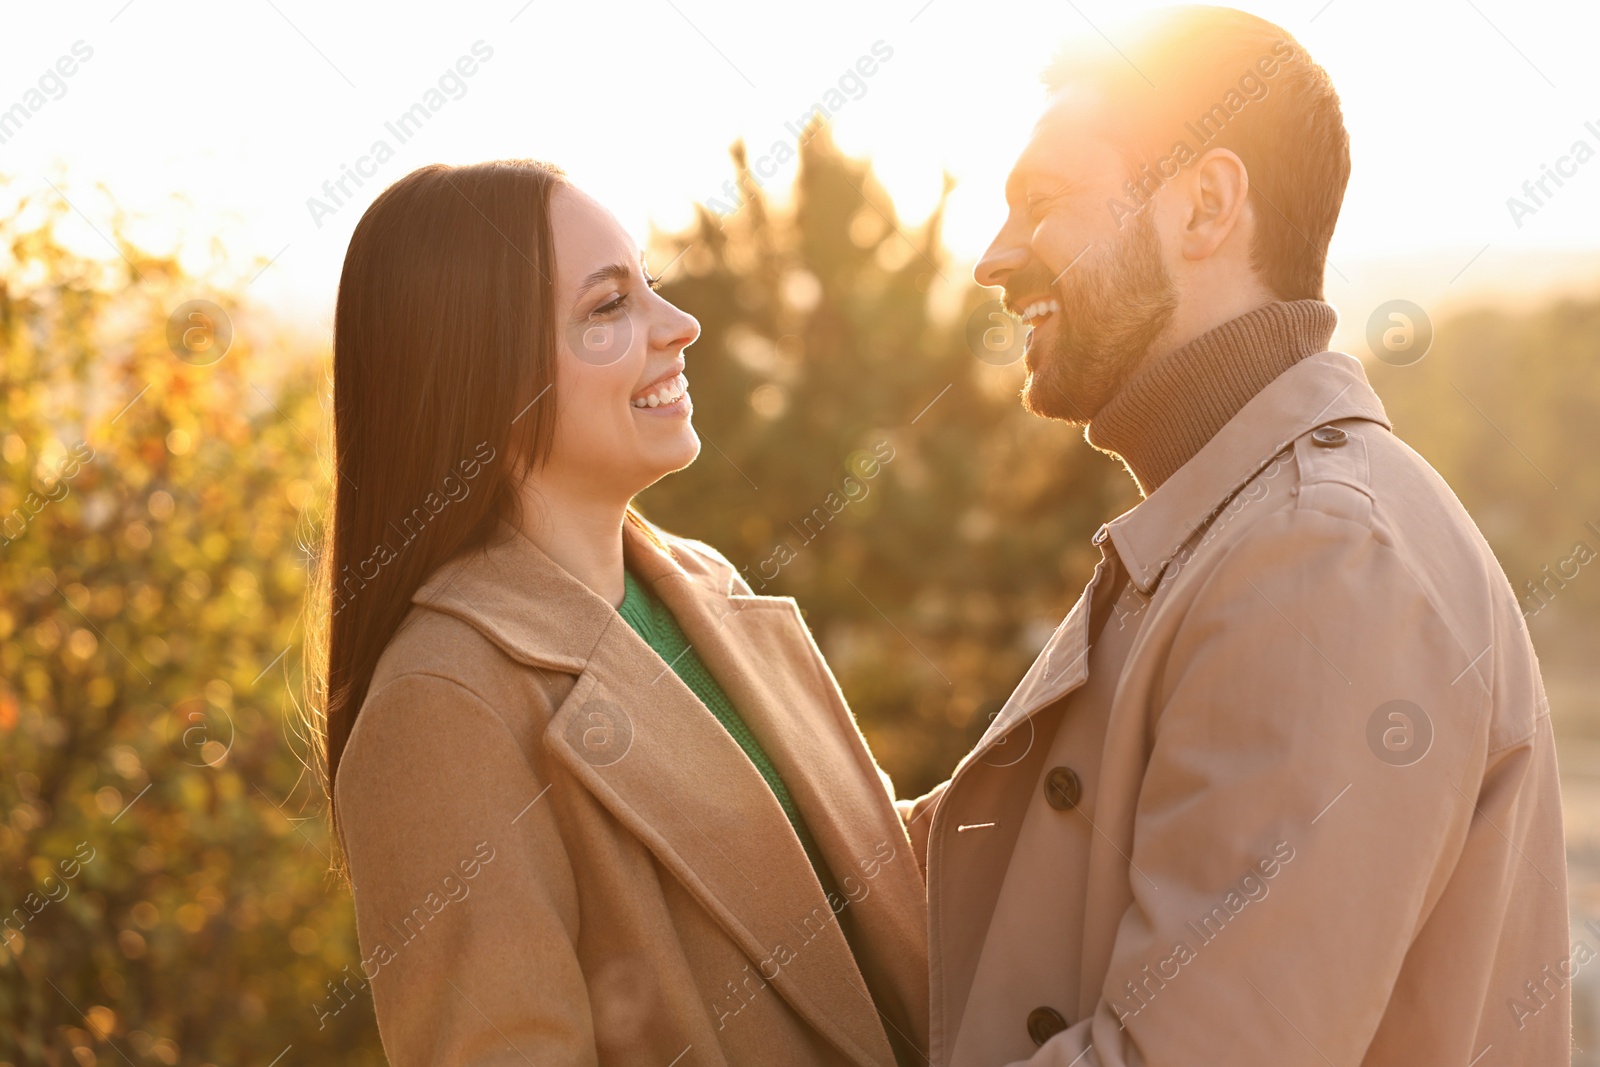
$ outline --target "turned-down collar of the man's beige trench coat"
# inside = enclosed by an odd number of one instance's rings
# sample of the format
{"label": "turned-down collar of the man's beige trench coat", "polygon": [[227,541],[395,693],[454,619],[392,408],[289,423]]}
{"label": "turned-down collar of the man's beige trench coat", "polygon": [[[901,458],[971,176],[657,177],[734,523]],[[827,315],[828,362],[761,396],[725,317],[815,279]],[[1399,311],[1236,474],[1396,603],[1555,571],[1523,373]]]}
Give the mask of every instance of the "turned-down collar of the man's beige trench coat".
{"label": "turned-down collar of the man's beige trench coat", "polygon": [[1150,496],[1106,523],[1134,587],[1150,595],[1190,534],[1234,493],[1298,437],[1338,419],[1390,427],[1355,357],[1320,352],[1272,379]]}

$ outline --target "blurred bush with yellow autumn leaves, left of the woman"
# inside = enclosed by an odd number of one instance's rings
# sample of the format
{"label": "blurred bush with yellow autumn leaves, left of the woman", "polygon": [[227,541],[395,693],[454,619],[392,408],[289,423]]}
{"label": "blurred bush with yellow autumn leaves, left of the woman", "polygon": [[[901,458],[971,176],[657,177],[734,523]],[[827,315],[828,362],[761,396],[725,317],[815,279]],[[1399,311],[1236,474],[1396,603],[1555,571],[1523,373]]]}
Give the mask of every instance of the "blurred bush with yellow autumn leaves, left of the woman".
{"label": "blurred bush with yellow autumn leaves, left of the woman", "polygon": [[290,744],[318,368],[179,358],[230,301],[67,211],[0,221],[0,1061],[382,1062]]}

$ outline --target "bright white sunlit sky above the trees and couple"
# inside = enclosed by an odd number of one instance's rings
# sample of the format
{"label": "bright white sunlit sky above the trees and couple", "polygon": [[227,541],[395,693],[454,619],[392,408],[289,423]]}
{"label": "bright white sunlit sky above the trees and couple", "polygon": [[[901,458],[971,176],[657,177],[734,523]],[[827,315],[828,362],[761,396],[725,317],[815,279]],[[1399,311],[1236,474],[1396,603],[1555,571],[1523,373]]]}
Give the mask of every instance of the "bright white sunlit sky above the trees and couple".
{"label": "bright white sunlit sky above the trees and couple", "polygon": [[[870,155],[912,224],[952,173],[947,240],[970,262],[1003,214],[1005,173],[1038,112],[1050,53],[1144,6],[1154,5],[494,0],[355,13],[326,0],[16,3],[0,37],[0,109],[43,104],[19,130],[0,126],[0,174],[18,192],[54,195],[46,179],[56,182],[83,216],[74,243],[85,250],[106,251],[88,229],[112,216],[96,190],[104,182],[147,219],[136,232],[158,246],[181,230],[200,256],[219,235],[240,270],[251,256],[277,256],[251,294],[322,323],[360,211],[414,166],[552,160],[643,242],[651,222],[682,226],[696,200],[720,195],[733,139],[755,155],[792,141],[786,123],[877,50],[875,72],[834,98],[846,101],[835,139]],[[1349,285],[1381,259],[1437,254],[1440,272],[1493,278],[1600,250],[1600,5],[1240,6],[1294,34],[1342,96],[1354,178],[1330,261]],[[46,72],[77,42],[93,54],[53,82]],[[470,77],[453,75],[477,42]],[[42,75],[46,91],[29,96]],[[384,123],[442,75],[446,102],[402,144]],[[326,200],[323,182],[379,139],[394,158],[363,163],[365,184],[347,179],[354,195],[318,226],[307,198]],[[1565,163],[1565,186],[1518,227],[1507,197],[1578,141],[1595,158]],[[794,168],[768,187],[786,189]],[[1448,283],[1440,274],[1424,288]],[[1330,274],[1330,294],[1338,288]]]}

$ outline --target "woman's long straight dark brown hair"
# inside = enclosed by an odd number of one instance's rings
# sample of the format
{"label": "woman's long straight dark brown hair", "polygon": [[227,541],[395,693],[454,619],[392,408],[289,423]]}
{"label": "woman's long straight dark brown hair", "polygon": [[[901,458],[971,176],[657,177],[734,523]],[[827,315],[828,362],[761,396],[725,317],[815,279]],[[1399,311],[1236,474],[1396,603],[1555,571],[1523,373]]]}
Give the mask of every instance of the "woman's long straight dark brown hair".
{"label": "woman's long straight dark brown hair", "polygon": [[499,518],[520,522],[517,475],[549,456],[550,198],[565,181],[533,160],[435,163],[386,189],[350,237],[334,310],[333,507],[307,605],[307,704],[330,806],[411,595],[485,545]]}

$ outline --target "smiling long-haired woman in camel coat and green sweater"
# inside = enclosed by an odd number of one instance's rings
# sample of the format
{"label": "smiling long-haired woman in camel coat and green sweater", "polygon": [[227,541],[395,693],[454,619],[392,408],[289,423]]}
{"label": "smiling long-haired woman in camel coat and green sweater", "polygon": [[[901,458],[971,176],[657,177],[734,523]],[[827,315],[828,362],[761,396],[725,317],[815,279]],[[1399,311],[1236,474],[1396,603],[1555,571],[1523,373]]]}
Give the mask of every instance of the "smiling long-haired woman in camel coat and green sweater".
{"label": "smiling long-haired woman in camel coat and green sweater", "polygon": [[653,290],[526,160],[350,238],[322,705],[397,1067],[926,1049],[922,877],[794,600],[630,506],[699,453]]}

